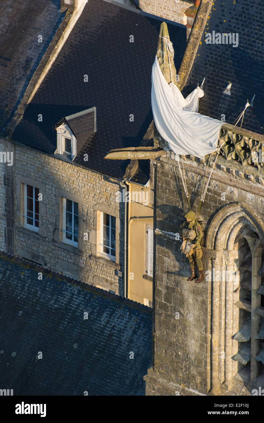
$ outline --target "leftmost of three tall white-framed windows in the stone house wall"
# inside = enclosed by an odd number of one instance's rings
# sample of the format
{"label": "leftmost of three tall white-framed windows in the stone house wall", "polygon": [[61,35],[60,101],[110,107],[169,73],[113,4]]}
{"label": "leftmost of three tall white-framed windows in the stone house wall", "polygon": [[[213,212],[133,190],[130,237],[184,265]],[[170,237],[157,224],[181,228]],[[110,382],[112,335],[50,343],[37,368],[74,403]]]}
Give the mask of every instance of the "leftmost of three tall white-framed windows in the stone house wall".
{"label": "leftmost of three tall white-framed windows in the stone house wall", "polygon": [[39,188],[25,184],[24,227],[39,232]]}

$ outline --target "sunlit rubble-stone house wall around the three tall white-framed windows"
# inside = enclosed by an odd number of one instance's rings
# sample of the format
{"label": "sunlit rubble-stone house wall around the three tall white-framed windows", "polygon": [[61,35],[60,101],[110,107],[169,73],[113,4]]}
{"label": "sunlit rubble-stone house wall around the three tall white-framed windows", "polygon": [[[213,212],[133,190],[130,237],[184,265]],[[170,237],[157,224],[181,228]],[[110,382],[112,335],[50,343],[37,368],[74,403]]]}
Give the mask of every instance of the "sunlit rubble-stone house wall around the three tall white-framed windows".
{"label": "sunlit rubble-stone house wall around the three tall white-framed windows", "polygon": [[[14,184],[15,254],[122,295],[124,203],[115,201],[119,182],[16,144]],[[43,195],[39,203],[39,233],[23,227],[23,184],[39,187]],[[62,242],[62,197],[79,204],[78,248]],[[116,263],[97,256],[98,211],[117,218]]]}

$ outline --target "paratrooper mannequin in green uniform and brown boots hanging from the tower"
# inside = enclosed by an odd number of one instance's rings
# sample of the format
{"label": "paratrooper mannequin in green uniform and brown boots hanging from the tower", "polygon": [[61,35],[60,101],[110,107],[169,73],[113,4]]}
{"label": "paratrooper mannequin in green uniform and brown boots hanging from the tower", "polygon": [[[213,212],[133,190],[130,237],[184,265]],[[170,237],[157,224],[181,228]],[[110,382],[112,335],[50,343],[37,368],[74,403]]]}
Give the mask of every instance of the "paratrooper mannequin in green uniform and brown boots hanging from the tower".
{"label": "paratrooper mannequin in green uniform and brown boots hanging from the tower", "polygon": [[202,263],[202,257],[203,257],[203,251],[201,246],[201,241],[203,239],[203,231],[201,228],[200,223],[195,223],[195,213],[193,211],[188,211],[184,217],[186,219],[191,219],[190,222],[183,222],[181,224],[181,236],[182,236],[182,229],[193,229],[196,233],[195,239],[192,241],[191,239],[188,239],[189,242],[194,244],[194,247],[192,248],[189,255],[187,255],[187,258],[189,260],[189,264],[192,270],[192,275],[187,280],[193,280],[195,279],[195,262],[197,264],[198,270],[199,270],[199,278],[195,281],[196,283],[200,283],[203,280],[203,263]]}

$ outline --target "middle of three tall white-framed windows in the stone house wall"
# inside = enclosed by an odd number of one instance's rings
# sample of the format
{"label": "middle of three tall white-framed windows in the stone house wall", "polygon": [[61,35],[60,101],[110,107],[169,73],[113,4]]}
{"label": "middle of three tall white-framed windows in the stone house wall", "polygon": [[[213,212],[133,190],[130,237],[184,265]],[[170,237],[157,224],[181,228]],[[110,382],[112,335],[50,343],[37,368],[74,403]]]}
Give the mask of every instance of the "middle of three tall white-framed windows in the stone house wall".
{"label": "middle of three tall white-framed windows in the stone house wall", "polygon": [[63,242],[78,247],[78,203],[63,198]]}

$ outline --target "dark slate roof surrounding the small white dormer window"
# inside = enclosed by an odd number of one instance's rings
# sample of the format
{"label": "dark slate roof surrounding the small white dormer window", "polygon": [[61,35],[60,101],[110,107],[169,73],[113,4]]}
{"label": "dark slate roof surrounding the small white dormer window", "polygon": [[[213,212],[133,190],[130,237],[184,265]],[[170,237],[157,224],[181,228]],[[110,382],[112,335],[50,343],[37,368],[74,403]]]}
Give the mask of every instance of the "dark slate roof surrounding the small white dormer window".
{"label": "dark slate roof surrounding the small white dormer window", "polygon": [[[96,143],[87,151],[87,166],[122,178],[129,161],[103,157],[112,148],[139,146],[153,119],[151,67],[162,20],[135,8],[89,0],[12,138],[54,153],[53,126],[64,116],[96,106]],[[178,69],[186,28],[176,23],[168,26]],[[86,74],[88,82],[83,81]],[[38,122],[39,113],[42,122]]]}

